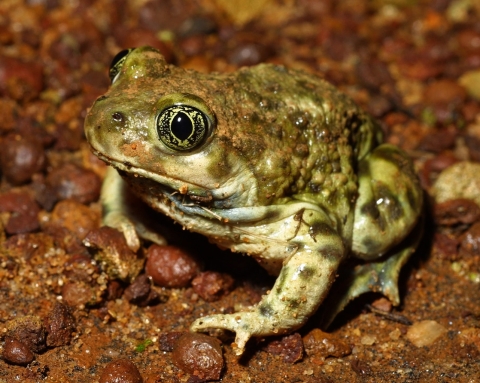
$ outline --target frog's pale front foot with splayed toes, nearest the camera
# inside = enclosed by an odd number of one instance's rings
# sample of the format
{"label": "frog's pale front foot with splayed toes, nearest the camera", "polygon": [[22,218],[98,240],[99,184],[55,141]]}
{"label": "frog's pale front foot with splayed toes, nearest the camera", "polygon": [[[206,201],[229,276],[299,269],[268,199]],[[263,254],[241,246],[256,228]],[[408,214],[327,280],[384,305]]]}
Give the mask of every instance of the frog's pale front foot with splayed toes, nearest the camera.
{"label": "frog's pale front foot with splayed toes, nearest the camera", "polygon": [[197,319],[192,323],[192,331],[208,331],[210,329],[229,330],[236,334],[232,345],[236,355],[242,355],[245,345],[251,337],[280,334],[275,324],[262,320],[255,312],[239,312],[235,314],[210,315]]}

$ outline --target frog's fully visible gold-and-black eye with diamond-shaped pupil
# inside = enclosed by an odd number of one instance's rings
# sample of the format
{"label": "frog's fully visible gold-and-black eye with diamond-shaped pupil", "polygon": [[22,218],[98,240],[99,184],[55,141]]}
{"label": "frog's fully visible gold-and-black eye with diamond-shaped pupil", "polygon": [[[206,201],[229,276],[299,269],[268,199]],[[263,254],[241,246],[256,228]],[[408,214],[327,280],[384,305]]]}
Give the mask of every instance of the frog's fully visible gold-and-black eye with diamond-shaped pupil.
{"label": "frog's fully visible gold-and-black eye with diamond-shaped pupil", "polygon": [[212,121],[207,114],[190,105],[172,105],[156,118],[158,137],[170,149],[189,151],[208,136]]}

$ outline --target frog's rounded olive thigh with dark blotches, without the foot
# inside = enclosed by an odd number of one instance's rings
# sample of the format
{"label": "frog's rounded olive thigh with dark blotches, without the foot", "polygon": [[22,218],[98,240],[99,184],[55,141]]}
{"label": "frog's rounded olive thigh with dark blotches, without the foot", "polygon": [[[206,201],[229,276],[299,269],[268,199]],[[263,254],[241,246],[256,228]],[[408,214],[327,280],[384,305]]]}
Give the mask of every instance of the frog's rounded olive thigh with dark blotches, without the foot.
{"label": "frog's rounded olive thigh with dark blotches, without the foot", "polygon": [[360,162],[358,177],[352,250],[372,260],[412,230],[422,210],[422,190],[406,153],[389,144]]}

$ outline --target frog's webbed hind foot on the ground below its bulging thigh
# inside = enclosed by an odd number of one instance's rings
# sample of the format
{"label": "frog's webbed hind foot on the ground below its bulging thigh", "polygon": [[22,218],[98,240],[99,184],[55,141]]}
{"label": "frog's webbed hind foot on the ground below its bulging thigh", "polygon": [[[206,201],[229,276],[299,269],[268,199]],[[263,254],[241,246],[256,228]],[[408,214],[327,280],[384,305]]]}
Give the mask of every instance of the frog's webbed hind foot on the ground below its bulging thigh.
{"label": "frog's webbed hind foot on the ground below its bulging thigh", "polygon": [[340,277],[322,304],[322,327],[328,327],[348,302],[367,292],[381,293],[394,306],[398,306],[400,270],[415,252],[422,234],[423,220],[420,219],[410,235],[400,244],[401,247],[392,249],[382,261],[358,265],[349,271],[341,270]]}

